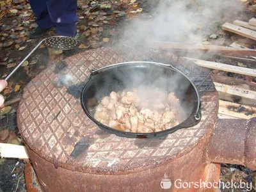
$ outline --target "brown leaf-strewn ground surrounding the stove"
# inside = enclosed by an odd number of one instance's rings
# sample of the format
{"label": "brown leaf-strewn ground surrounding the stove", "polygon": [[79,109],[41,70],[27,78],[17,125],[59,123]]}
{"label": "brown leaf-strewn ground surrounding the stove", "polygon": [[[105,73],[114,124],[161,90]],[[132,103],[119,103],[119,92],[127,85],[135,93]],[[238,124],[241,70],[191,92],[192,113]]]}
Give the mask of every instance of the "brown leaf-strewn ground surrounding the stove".
{"label": "brown leaf-strewn ground surrounding the stove", "polygon": [[[156,28],[158,28],[159,23],[164,20],[157,16],[162,15],[164,12],[164,8],[163,10],[161,7],[159,8],[157,3],[157,0],[78,1],[79,6],[77,15],[79,19],[77,21],[77,31],[79,32],[79,40],[82,44],[78,49],[65,51],[63,54],[53,56],[49,56],[47,47],[44,47],[43,45],[40,46],[40,48],[28,59],[28,62],[23,63],[22,67],[20,67],[17,73],[8,81],[8,88],[3,92],[6,102],[21,97],[22,88],[28,84],[31,78],[44,70],[47,65],[51,65],[67,56],[88,49],[94,49],[96,47],[115,45],[116,43],[125,45],[144,45],[145,41],[151,38],[156,38],[156,40],[189,42],[192,40],[191,36],[196,36],[196,38],[200,36],[200,40],[203,44],[228,46],[232,44],[232,42],[236,42],[245,47],[255,49],[255,41],[231,33],[226,33],[221,30],[221,25],[226,21],[232,22],[236,19],[249,20],[252,18],[253,13],[256,10],[254,1],[243,1],[241,9],[236,12],[227,12],[229,5],[225,8],[225,3],[220,4],[218,5],[220,6],[218,9],[221,8],[221,13],[216,13],[209,17],[207,16],[207,20],[202,19],[204,18],[202,17],[197,20],[198,23],[196,24],[191,24],[190,22],[189,25],[182,23],[184,25],[181,27],[180,25],[173,26],[173,28],[170,29],[171,31],[175,31],[175,29],[177,31],[179,31],[178,29],[182,31],[178,35],[177,33],[172,33],[172,35],[170,35],[169,31],[164,29],[162,31],[167,31],[169,34],[166,35],[163,32],[164,38],[163,36],[156,35]],[[42,38],[31,40],[28,38],[28,32],[35,28],[36,24],[35,17],[33,16],[28,1],[3,0],[0,1],[0,5],[0,79],[3,79],[19,64],[33,47],[40,42],[40,40],[47,36],[54,35],[55,32],[54,29],[52,29]],[[191,10],[200,13],[203,12],[202,10],[205,10],[205,12],[207,10],[204,5],[202,6],[202,4],[200,4],[200,1],[186,1],[182,6],[186,7],[186,9],[180,8],[185,15],[191,14]],[[216,4],[211,4],[211,6],[214,6],[215,8],[217,7]],[[179,15],[180,13],[177,14]],[[192,16],[194,15],[192,14]],[[185,17],[183,21],[186,22],[187,19],[188,18]],[[152,20],[153,22],[151,22]],[[175,24],[175,20],[177,19],[172,18],[171,23]],[[210,20],[211,26],[204,23],[208,22],[209,24]],[[147,24],[146,30],[148,31],[143,31],[143,28],[139,27],[141,24]],[[184,33],[184,31],[186,32]],[[141,32],[143,34],[142,37],[140,35]],[[144,35],[145,32],[148,32],[147,35]],[[183,55],[183,52],[173,52],[173,61],[175,62],[177,57],[179,58],[179,56]],[[195,55],[198,56],[198,54]],[[230,65],[238,65],[240,67],[255,68],[254,62],[242,63],[241,61],[220,55],[209,56],[207,54],[201,54],[200,58]],[[237,74],[219,71],[215,71],[214,73],[255,82],[255,78],[239,76]],[[16,109],[17,103],[7,108],[7,111],[1,110],[0,131],[6,129],[9,131],[6,136],[6,138],[8,137],[7,139],[4,138],[5,136],[3,136],[3,134],[0,134],[1,142],[15,144],[22,142],[22,138],[20,138],[17,129]],[[22,160],[0,159],[0,188],[3,189],[3,191],[26,191],[24,179],[25,164],[26,163]],[[256,173],[244,166],[222,164],[221,179],[225,181],[230,179],[243,179],[246,180],[246,182],[252,182],[253,190],[255,191]]]}

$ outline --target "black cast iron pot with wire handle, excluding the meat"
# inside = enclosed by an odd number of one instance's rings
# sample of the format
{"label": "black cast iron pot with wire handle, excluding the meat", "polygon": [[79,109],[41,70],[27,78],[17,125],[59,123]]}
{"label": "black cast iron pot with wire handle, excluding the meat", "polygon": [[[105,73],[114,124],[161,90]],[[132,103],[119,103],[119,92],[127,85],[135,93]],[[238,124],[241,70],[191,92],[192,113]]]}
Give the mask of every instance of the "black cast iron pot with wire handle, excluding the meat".
{"label": "black cast iron pot with wire handle, excluding the meat", "polygon": [[[175,92],[180,100],[182,109],[186,112],[184,121],[164,131],[151,133],[124,132],[101,124],[89,109],[92,100],[101,100],[109,96],[111,92],[119,92],[138,88],[138,86],[152,86],[164,92]],[[178,129],[192,127],[201,119],[200,97],[192,81],[182,72],[172,65],[153,62],[127,62],[109,65],[91,71],[90,78],[83,88],[81,104],[86,115],[97,124],[100,129],[104,129],[117,136],[127,138],[154,138],[164,136]]]}

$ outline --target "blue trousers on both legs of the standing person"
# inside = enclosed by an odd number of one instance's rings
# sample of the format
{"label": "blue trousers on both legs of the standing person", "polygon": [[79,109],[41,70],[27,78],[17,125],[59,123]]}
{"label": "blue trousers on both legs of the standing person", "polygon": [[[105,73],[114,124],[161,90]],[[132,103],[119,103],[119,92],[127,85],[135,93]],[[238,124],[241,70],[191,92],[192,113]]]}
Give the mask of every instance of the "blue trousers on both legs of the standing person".
{"label": "blue trousers on both legs of the standing person", "polygon": [[40,28],[56,26],[58,35],[76,35],[77,0],[29,0]]}

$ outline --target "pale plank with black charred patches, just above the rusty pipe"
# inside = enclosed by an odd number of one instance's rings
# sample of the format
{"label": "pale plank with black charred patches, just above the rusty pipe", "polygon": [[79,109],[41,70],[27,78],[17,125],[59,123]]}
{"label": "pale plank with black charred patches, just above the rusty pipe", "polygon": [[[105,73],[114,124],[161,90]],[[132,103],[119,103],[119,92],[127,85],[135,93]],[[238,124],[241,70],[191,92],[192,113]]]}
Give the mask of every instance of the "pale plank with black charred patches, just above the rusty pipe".
{"label": "pale plank with black charred patches, just above the rusty pipe", "polygon": [[219,113],[235,118],[250,119],[256,116],[256,108],[219,100]]}

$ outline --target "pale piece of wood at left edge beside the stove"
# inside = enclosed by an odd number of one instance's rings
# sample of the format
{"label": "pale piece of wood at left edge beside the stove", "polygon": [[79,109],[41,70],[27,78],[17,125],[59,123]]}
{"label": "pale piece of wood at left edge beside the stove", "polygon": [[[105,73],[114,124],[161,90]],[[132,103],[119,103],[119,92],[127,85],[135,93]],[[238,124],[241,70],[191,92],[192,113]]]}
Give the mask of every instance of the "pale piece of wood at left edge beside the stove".
{"label": "pale piece of wood at left edge beside the stove", "polygon": [[9,143],[0,143],[0,156],[6,158],[29,159],[24,146]]}

